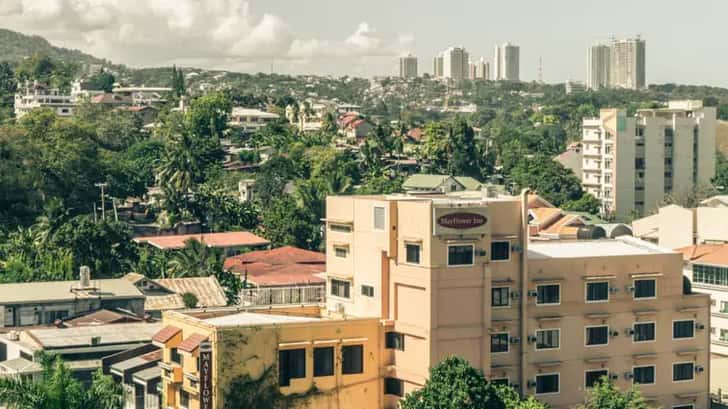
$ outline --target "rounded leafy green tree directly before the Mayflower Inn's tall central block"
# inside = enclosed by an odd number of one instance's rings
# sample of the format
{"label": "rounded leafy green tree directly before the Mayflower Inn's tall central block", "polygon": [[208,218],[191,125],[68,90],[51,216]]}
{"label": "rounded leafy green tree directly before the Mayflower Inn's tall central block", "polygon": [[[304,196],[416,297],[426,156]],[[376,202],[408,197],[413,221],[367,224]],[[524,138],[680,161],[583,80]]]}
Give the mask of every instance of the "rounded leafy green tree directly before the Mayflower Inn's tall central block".
{"label": "rounded leafy green tree directly before the Mayflower Inn's tall central block", "polygon": [[483,373],[467,360],[448,357],[430,369],[425,385],[407,394],[401,401],[402,409],[505,409]]}

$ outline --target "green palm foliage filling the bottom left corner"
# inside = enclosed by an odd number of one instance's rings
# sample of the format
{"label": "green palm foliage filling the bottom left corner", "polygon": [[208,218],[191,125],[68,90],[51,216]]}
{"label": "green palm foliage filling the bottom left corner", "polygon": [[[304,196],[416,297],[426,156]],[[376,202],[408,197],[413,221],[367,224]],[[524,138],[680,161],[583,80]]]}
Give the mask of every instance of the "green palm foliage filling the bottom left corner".
{"label": "green palm foliage filling the bottom left corner", "polygon": [[43,371],[39,380],[25,377],[0,378],[0,403],[8,409],[121,409],[123,386],[97,370],[90,387],[73,378],[60,357],[39,357]]}

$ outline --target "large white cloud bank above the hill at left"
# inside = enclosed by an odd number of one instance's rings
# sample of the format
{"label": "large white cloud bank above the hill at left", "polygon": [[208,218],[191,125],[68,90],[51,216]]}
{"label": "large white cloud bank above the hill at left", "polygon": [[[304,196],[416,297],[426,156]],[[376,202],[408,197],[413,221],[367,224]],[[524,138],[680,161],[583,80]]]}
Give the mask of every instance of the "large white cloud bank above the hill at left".
{"label": "large white cloud bank above the hill at left", "polygon": [[[3,25],[115,62],[249,67],[287,60],[396,56],[412,43],[362,22],[343,40],[301,38],[279,16],[243,0],[0,0]],[[320,61],[319,61],[320,62]]]}

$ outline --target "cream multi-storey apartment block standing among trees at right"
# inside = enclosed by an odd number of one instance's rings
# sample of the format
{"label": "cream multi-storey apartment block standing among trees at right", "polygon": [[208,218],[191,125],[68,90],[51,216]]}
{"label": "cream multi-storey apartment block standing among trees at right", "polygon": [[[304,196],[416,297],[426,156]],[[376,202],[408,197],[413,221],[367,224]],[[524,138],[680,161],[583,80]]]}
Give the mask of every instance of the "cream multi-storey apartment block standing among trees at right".
{"label": "cream multi-storey apartment block standing among trees at right", "polygon": [[583,121],[582,185],[602,201],[604,216],[624,220],[657,207],[715,175],[716,109],[701,101],[667,108],[602,109]]}

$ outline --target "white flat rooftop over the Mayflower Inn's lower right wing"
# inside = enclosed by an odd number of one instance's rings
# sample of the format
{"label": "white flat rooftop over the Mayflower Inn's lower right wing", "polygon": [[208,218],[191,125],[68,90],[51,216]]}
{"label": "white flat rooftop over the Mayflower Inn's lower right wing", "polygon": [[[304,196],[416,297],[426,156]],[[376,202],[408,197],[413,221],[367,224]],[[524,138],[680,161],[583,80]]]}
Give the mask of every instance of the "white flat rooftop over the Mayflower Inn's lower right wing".
{"label": "white flat rooftop over the Mayflower Inn's lower right wing", "polygon": [[572,242],[531,242],[528,244],[528,258],[534,260],[548,258],[639,256],[669,253],[674,252],[634,237]]}

